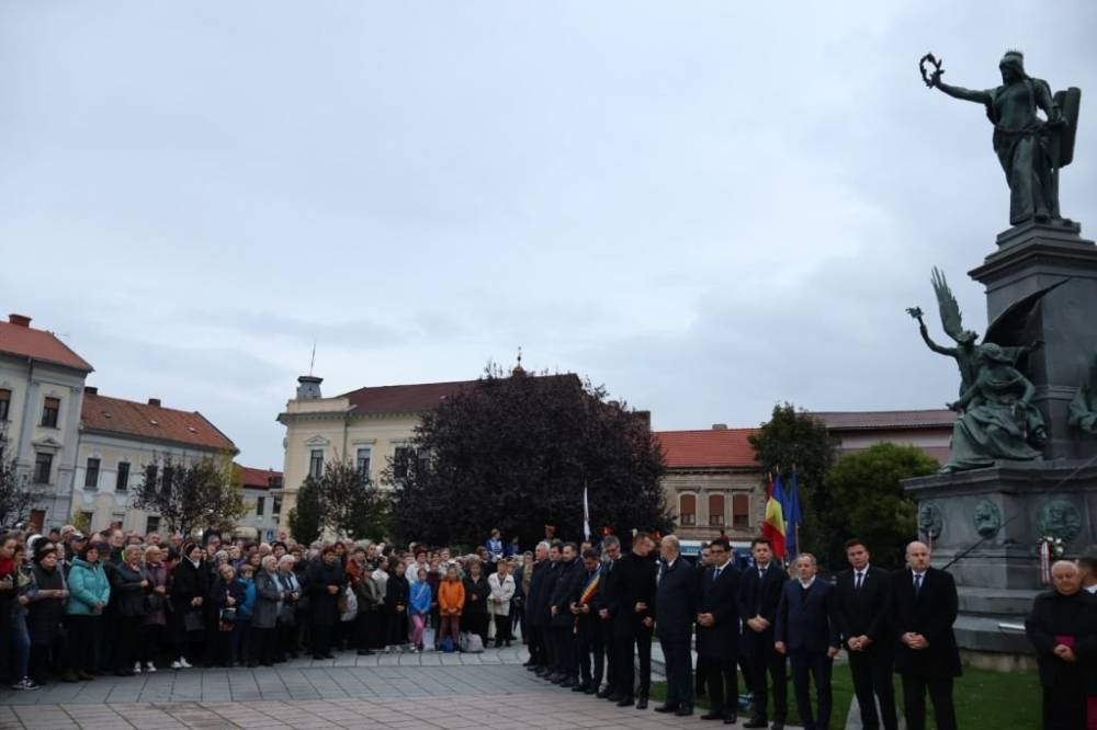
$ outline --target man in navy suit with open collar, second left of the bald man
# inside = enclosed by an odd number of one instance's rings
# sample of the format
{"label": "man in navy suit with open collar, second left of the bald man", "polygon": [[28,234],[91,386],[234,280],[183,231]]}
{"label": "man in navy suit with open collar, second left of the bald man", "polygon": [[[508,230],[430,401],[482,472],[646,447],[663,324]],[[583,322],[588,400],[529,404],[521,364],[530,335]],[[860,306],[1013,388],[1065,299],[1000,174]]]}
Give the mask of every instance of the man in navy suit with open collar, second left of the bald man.
{"label": "man in navy suit with open collar, second left of the bald man", "polygon": [[[796,709],[804,730],[828,730],[834,702],[830,672],[840,648],[838,621],[834,613],[834,586],[815,579],[815,556],[801,552],[777,606],[773,648],[789,657]],[[818,720],[812,714],[811,682],[815,682]]]}

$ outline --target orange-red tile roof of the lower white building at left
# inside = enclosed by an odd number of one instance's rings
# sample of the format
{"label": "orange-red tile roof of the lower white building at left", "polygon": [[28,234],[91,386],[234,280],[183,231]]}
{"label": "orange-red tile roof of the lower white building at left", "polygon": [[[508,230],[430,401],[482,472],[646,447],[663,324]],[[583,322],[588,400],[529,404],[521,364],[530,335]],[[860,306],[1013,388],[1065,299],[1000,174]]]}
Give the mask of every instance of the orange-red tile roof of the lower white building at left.
{"label": "orange-red tile roof of the lower white building at left", "polygon": [[81,427],[100,433],[122,434],[155,441],[236,452],[236,444],[194,411],[177,411],[161,406],[137,403],[84,392]]}

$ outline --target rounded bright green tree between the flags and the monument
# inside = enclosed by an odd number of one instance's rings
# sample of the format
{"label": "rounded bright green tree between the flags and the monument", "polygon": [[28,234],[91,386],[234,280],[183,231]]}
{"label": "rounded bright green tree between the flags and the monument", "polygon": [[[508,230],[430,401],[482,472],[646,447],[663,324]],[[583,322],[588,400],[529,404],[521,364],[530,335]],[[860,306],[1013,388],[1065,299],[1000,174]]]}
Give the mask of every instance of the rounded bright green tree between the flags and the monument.
{"label": "rounded bright green tree between the flags and the monument", "polygon": [[[872,552],[873,563],[901,567],[906,544],[917,535],[917,506],[900,482],[934,474],[939,467],[917,446],[890,443],[838,459],[826,478],[834,505],[828,522],[836,541],[859,537]],[[839,564],[832,563],[834,568]]]}

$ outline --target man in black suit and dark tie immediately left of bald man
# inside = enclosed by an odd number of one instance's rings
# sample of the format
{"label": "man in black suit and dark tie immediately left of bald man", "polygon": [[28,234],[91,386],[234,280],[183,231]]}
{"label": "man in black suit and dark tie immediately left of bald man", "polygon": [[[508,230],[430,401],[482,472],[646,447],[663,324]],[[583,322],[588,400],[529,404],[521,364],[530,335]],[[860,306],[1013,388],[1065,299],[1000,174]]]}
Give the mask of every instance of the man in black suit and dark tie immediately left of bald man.
{"label": "man in black suit and dark tie immediately left of bald man", "polygon": [[[858,538],[846,541],[846,559],[850,569],[838,573],[834,597],[838,630],[849,652],[849,672],[861,709],[861,727],[879,730],[883,720],[884,730],[896,730],[898,721],[892,685],[895,647],[887,623],[891,573],[869,562],[869,550]],[[879,715],[877,699],[880,700]]]}

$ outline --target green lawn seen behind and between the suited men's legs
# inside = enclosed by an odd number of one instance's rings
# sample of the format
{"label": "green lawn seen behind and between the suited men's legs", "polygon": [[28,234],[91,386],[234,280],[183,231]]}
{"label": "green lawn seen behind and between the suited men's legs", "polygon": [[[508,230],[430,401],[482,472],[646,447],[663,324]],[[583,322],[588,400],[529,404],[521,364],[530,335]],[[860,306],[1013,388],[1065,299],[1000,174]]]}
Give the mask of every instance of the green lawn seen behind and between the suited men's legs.
{"label": "green lawn seen behind and between the suited men's legs", "polygon": [[[744,682],[739,677],[739,692],[744,692]],[[834,716],[832,727],[841,728],[846,725],[849,705],[853,702],[853,680],[849,674],[849,665],[835,664],[832,681],[834,689]],[[667,696],[666,682],[652,683],[652,699],[663,700]],[[771,695],[772,696],[772,695]],[[772,699],[770,699],[772,703]],[[1039,728],[1040,727],[1040,680],[1034,672],[992,672],[989,670],[965,666],[963,676],[955,682],[953,702],[957,708],[957,722],[964,730],[1000,730],[1000,728]],[[895,704],[900,716],[903,714],[903,682],[895,675]],[[699,707],[708,707],[705,700],[698,702]],[[927,729],[936,730],[932,703],[926,698]],[[740,712],[743,716],[743,712]],[[770,718],[773,708],[770,705]],[[799,723],[796,700],[792,692],[792,678],[789,678],[789,722]]]}

